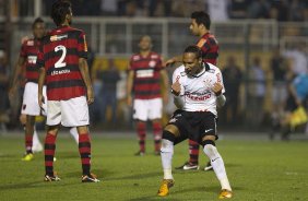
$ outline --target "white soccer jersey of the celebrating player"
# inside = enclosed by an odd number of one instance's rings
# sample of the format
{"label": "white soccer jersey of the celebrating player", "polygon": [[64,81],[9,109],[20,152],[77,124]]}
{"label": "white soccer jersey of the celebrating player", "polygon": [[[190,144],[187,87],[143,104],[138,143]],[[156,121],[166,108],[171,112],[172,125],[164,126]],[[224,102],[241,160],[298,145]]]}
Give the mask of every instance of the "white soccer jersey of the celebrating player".
{"label": "white soccer jersey of the celebrating player", "polygon": [[222,72],[217,67],[206,63],[199,74],[192,76],[185,72],[182,64],[173,74],[173,83],[177,80],[181,84],[180,96],[183,100],[183,110],[211,111],[217,116],[216,95],[212,91],[214,83],[221,83],[223,85],[222,93],[225,93]]}

